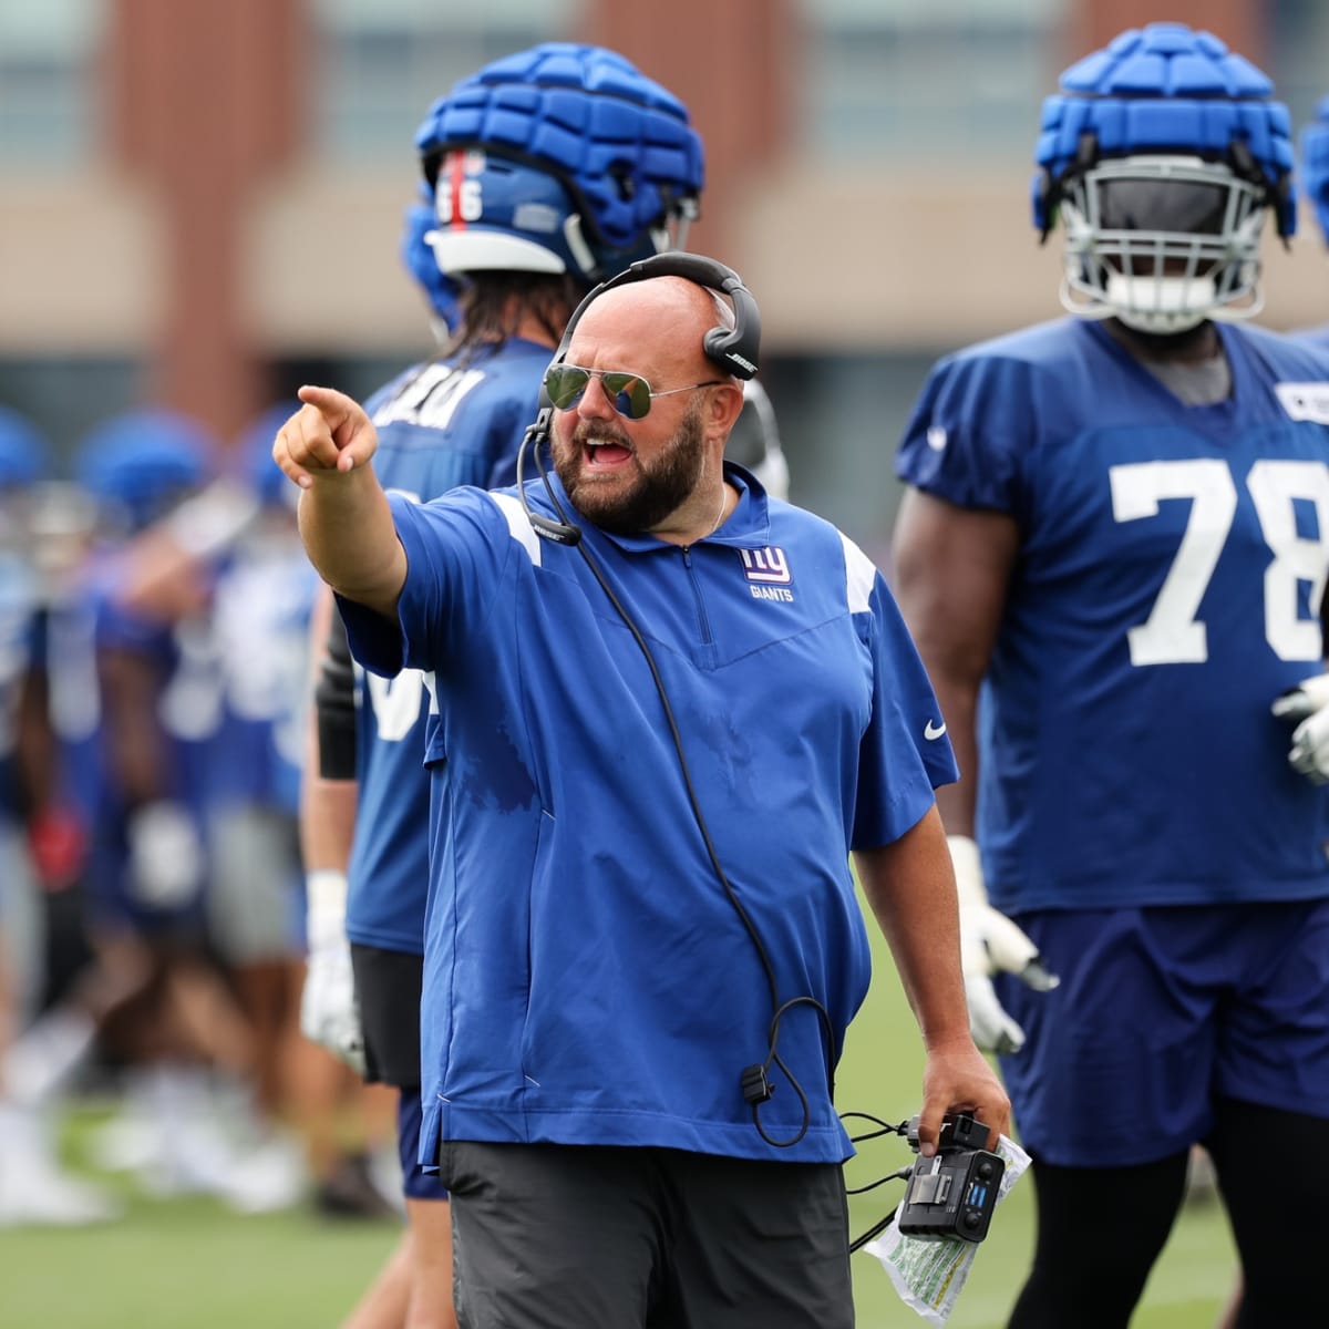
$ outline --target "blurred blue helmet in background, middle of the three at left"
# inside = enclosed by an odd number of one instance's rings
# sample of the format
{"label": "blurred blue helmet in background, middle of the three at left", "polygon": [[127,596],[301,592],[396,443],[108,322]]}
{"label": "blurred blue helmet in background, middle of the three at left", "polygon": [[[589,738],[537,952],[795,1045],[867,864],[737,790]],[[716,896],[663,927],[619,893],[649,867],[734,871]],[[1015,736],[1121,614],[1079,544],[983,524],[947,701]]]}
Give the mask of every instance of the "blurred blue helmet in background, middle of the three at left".
{"label": "blurred blue helmet in background, middle of the three at left", "polygon": [[74,456],[74,480],[114,525],[141,530],[207,477],[217,445],[175,411],[126,411],[96,425]]}

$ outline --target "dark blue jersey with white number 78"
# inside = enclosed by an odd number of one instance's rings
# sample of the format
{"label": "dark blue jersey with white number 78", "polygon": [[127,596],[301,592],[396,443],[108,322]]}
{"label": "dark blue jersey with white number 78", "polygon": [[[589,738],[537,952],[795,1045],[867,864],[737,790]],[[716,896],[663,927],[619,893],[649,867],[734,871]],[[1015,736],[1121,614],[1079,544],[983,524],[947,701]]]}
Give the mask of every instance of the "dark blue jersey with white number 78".
{"label": "dark blue jersey with white number 78", "polygon": [[979,706],[1005,912],[1329,894],[1329,793],[1269,714],[1322,667],[1329,356],[1219,332],[1212,405],[1063,319],[940,361],[908,425],[901,478],[1021,528]]}

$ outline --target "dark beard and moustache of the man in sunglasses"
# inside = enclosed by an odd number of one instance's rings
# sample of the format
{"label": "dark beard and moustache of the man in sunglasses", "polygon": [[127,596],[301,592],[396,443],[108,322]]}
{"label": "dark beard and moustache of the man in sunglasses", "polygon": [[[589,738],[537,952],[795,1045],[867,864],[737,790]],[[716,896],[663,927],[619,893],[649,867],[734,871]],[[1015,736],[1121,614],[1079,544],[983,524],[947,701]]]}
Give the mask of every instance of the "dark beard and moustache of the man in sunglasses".
{"label": "dark beard and moustache of the man in sunglasses", "polygon": [[[631,453],[621,478],[585,477],[585,444],[591,439],[617,443]],[[615,536],[637,536],[662,525],[691,497],[702,478],[703,440],[702,411],[690,405],[674,436],[643,464],[626,435],[609,423],[589,420],[566,441],[556,436],[554,470],[583,517]]]}

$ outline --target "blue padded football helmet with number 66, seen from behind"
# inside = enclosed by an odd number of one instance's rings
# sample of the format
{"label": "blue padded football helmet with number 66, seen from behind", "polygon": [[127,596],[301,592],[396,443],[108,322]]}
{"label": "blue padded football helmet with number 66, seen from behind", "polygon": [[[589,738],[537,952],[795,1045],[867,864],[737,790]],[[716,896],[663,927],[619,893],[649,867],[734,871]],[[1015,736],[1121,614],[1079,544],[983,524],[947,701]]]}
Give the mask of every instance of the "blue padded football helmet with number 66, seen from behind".
{"label": "blue padded football helmet with number 66, seen from behind", "polygon": [[682,249],[699,215],[687,108],[602,47],[545,43],[485,65],[416,134],[448,274],[567,272],[586,286]]}

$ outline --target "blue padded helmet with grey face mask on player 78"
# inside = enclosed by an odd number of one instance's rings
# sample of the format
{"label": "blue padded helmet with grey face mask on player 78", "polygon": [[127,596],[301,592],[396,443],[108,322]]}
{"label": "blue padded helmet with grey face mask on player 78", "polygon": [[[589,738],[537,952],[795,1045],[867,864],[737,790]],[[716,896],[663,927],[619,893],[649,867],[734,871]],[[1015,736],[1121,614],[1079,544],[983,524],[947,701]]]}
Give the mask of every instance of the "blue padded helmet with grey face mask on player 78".
{"label": "blue padded helmet with grey face mask on player 78", "polygon": [[1208,32],[1154,23],[1071,65],[1043,102],[1034,225],[1062,222],[1062,303],[1174,334],[1263,307],[1260,233],[1296,230],[1288,109]]}

